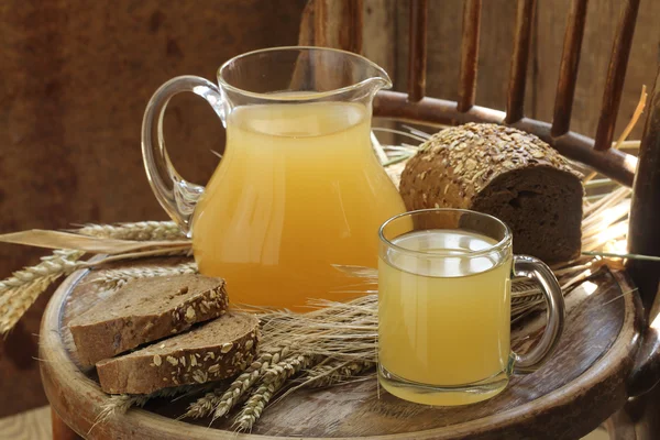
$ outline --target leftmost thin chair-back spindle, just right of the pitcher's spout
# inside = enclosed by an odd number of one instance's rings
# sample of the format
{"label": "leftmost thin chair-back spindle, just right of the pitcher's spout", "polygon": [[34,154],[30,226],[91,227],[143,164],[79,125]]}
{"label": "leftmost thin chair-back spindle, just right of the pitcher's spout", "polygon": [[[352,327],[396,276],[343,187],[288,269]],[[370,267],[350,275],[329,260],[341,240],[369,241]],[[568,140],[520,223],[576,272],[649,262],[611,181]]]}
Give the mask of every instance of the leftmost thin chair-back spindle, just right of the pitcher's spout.
{"label": "leftmost thin chair-back spindle, just right of the pitcher's spout", "polygon": [[408,99],[420,101],[426,92],[428,1],[410,0]]}

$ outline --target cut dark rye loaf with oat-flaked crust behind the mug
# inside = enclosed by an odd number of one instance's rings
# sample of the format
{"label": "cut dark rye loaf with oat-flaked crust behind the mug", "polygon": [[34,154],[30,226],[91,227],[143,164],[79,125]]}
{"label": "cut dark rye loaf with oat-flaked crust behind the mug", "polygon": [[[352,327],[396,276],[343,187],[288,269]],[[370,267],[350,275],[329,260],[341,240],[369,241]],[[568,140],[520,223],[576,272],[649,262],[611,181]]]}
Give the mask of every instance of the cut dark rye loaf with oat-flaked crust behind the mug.
{"label": "cut dark rye loaf with oat-flaked crust behind the mug", "polygon": [[557,263],[580,253],[581,175],[534,134],[477,123],[443,130],[408,161],[399,190],[408,210],[497,217],[512,229],[517,254]]}

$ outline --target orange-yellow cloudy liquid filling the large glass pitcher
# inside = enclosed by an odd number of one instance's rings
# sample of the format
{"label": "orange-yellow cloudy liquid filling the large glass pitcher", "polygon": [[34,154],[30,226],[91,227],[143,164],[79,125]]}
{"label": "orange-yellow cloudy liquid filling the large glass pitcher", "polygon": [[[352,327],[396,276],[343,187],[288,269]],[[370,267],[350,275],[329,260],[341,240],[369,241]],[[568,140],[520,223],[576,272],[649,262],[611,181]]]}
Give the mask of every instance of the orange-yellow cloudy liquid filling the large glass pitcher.
{"label": "orange-yellow cloudy liquid filling the large glass pitcher", "polygon": [[227,152],[196,208],[193,246],[205,275],[238,304],[305,310],[366,287],[333,264],[377,266],[377,231],[405,211],[356,103],[235,109]]}

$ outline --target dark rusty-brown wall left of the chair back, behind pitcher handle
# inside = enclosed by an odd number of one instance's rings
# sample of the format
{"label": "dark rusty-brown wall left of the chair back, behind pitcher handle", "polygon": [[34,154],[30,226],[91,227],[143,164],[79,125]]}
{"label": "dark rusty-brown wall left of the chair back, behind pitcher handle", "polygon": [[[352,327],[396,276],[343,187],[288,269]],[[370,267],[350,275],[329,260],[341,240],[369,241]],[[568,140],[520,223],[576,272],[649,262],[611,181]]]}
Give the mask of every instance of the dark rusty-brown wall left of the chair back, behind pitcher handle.
{"label": "dark rusty-brown wall left of the chair back, behind pitcher handle", "polygon": [[[151,95],[177,75],[209,79],[230,57],[297,43],[305,0],[0,2],[0,233],[73,222],[165,219],[140,153]],[[166,138],[204,183],[223,129],[195,96],[172,101]],[[0,277],[38,251],[0,245]],[[0,339],[0,417],[45,404],[36,356],[42,297]]]}

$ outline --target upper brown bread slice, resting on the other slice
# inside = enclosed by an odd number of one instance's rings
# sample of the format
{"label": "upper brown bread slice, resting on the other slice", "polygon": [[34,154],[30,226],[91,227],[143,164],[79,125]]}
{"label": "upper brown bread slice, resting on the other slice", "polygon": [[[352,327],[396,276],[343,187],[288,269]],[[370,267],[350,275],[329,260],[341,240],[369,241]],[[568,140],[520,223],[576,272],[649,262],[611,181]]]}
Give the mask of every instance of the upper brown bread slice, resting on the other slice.
{"label": "upper brown bread slice, resting on the other slice", "polygon": [[226,312],[224,280],[201,275],[140,278],[69,323],[82,366]]}

